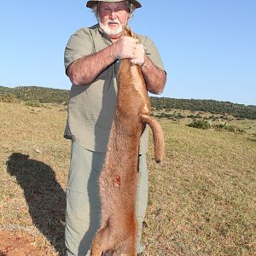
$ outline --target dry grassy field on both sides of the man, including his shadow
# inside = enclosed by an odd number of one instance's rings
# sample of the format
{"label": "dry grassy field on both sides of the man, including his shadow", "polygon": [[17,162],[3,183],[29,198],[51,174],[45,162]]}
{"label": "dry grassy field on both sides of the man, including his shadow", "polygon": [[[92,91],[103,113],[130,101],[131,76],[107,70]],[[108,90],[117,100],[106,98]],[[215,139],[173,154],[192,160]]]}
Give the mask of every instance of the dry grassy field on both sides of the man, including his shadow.
{"label": "dry grassy field on both sides of the man, including his shadow", "polygon": [[[63,255],[66,110],[0,102],[0,113],[0,230]],[[243,133],[160,122],[166,158],[156,165],[150,147],[144,255],[256,255],[256,121],[234,121]]]}

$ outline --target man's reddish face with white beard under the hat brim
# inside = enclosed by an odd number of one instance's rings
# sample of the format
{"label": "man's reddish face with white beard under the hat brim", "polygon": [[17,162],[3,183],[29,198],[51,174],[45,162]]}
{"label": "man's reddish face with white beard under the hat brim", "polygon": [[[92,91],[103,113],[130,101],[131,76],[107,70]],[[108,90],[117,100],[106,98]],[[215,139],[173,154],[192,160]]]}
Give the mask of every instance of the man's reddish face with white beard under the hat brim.
{"label": "man's reddish face with white beard under the hat brim", "polygon": [[108,3],[99,4],[99,24],[108,36],[116,36],[122,32],[122,25],[127,23],[129,12],[126,3]]}

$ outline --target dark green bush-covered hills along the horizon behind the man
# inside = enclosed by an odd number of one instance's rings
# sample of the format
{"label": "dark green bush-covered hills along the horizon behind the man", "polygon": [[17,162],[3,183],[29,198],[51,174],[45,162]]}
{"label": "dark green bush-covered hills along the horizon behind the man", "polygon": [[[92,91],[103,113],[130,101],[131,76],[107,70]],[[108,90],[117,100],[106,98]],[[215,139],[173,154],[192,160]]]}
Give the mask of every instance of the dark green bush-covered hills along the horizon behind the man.
{"label": "dark green bush-covered hills along the horizon behind the man", "polygon": [[[170,113],[173,109],[190,111],[201,111],[212,114],[232,115],[237,119],[256,119],[256,106],[245,106],[232,102],[218,102],[213,100],[194,99],[173,99],[167,97],[150,97],[151,105],[157,112],[159,118],[183,119],[181,113]],[[0,102],[29,102],[29,104],[39,105],[39,103],[58,103],[67,105],[68,90],[51,89],[39,86],[19,86],[9,88],[0,86]],[[193,119],[193,116],[190,116]],[[200,119],[200,114],[194,116]]]}

